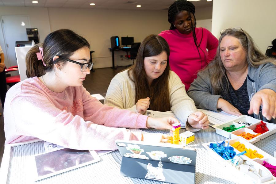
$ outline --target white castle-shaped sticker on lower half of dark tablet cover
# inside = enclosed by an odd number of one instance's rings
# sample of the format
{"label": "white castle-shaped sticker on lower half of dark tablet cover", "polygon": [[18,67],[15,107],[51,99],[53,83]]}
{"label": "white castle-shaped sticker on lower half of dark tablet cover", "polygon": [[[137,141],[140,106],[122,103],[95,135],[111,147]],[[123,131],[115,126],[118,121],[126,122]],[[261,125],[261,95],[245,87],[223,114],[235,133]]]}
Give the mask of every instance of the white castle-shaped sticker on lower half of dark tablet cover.
{"label": "white castle-shaped sticker on lower half of dark tablet cover", "polygon": [[146,174],[145,178],[158,180],[158,181],[165,181],[162,162],[158,163],[158,167],[152,167],[152,164],[148,163],[147,169],[148,169],[148,173]]}

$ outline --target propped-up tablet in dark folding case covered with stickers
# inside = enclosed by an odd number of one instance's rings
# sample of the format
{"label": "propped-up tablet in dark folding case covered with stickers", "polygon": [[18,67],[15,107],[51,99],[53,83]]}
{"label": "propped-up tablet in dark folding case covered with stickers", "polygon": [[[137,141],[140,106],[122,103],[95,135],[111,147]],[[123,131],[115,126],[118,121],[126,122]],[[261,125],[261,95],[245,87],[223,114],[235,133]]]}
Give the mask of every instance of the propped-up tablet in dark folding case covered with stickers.
{"label": "propped-up tablet in dark folding case covered with stickers", "polygon": [[197,152],[182,145],[116,140],[123,156],[121,174],[169,183],[195,183]]}

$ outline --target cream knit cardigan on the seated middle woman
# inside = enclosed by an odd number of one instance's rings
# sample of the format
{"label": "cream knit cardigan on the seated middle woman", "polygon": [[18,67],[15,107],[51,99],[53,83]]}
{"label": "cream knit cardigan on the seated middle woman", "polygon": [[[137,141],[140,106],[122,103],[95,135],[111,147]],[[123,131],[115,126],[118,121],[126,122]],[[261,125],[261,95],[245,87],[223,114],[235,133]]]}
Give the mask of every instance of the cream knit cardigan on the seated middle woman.
{"label": "cream knit cardigan on the seated middle woman", "polygon": [[[170,71],[169,74],[169,90],[171,110],[180,121],[187,122],[188,116],[197,110],[194,101],[186,94],[185,85],[173,71]],[[118,73],[111,80],[105,95],[104,104],[137,113],[135,84],[128,77],[128,70]],[[192,128],[187,123],[186,129],[193,132],[200,130]]]}

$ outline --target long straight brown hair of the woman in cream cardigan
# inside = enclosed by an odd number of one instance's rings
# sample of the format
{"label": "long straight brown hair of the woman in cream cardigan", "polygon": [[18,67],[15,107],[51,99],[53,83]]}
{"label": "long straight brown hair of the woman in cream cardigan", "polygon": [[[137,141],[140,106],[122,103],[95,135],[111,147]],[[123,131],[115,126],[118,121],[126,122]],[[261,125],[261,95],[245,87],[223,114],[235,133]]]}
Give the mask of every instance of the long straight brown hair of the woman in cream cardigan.
{"label": "long straight brown hair of the woman in cream cardigan", "polygon": [[[157,56],[163,51],[167,53],[167,67],[163,74],[154,79],[151,86],[148,85],[144,69],[144,58]],[[169,65],[170,48],[166,40],[161,36],[147,36],[136,57],[136,63],[128,70],[129,78],[135,83],[135,103],[141,98],[150,98],[150,109],[156,111],[168,111],[171,109],[168,80],[170,74]]]}

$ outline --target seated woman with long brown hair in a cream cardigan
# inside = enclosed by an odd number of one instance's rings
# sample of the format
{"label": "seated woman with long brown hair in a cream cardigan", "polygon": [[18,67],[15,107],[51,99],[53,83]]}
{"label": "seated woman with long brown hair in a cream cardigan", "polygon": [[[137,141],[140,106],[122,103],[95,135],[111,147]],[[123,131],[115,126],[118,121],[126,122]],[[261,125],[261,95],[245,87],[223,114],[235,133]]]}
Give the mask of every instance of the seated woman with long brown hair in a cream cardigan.
{"label": "seated woman with long brown hair in a cream cardigan", "polygon": [[147,36],[138,50],[135,65],[111,80],[104,103],[141,114],[147,109],[172,110],[180,121],[186,122],[187,130],[207,129],[208,117],[197,111],[185,85],[170,70],[169,55],[166,40],[157,35]]}

